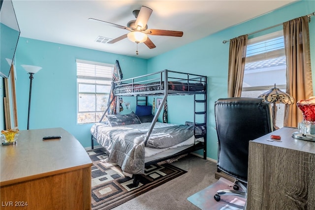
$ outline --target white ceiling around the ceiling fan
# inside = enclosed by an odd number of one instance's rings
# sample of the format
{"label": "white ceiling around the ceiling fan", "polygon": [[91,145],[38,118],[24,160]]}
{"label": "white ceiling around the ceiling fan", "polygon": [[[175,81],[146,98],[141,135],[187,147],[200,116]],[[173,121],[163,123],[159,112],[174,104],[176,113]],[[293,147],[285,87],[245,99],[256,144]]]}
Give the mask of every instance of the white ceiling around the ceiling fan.
{"label": "white ceiling around the ceiling fan", "polygon": [[[22,37],[79,46],[139,58],[151,58],[228,27],[266,14],[295,0],[12,0]],[[88,20],[95,18],[126,26],[132,11],[153,9],[148,28],[183,31],[183,37],[151,35],[149,49],[127,38],[114,44],[95,42],[97,36],[114,39],[128,31]],[[233,37],[222,37],[229,39]]]}

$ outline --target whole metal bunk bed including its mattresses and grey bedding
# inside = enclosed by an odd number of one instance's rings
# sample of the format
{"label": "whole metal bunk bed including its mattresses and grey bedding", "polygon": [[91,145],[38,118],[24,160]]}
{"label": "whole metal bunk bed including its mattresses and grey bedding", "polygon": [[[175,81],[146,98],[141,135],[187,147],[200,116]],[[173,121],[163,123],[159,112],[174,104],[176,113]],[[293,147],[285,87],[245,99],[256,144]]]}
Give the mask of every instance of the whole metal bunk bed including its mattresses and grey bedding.
{"label": "whole metal bunk bed including its mattresses and grey bedding", "polygon": [[[92,148],[94,148],[94,141],[96,141],[105,147],[106,151],[110,154],[109,156],[115,154],[112,156],[116,157],[109,158],[108,161],[120,165],[126,175],[134,175],[134,184],[137,185],[138,181],[136,177],[137,175],[144,173],[145,166],[176,158],[200,149],[203,150],[203,158],[206,159],[206,76],[162,70],[151,74],[116,81],[114,87],[114,96],[116,96],[116,98],[127,96],[137,97],[137,107],[143,102],[145,102],[145,105],[148,105],[148,96],[162,97],[160,105],[156,113],[153,115],[153,119],[148,122],[141,122],[140,119],[137,118],[137,115],[133,112],[122,116],[106,115],[110,106],[108,105],[100,121],[95,123],[95,125],[91,128]],[[193,95],[193,122],[186,122],[185,125],[158,122],[158,116],[166,103],[167,97],[172,95]],[[140,100],[139,98],[141,97],[145,97],[145,100]],[[109,104],[111,103],[112,101]],[[117,119],[117,117],[119,119]],[[111,121],[111,118],[115,119],[112,123],[108,123],[108,120]],[[121,118],[127,119],[128,123],[123,122]],[[104,119],[106,119],[105,122],[103,121]],[[199,121],[197,122],[197,120]],[[120,123],[117,124],[117,122]],[[174,143],[175,145],[170,144],[168,148],[164,148],[159,145],[156,146],[154,139],[157,139],[158,136],[158,139],[161,140],[161,133],[172,134],[172,138],[170,139],[173,139],[173,134],[180,133],[183,135],[177,139],[182,140]],[[115,134],[120,136],[113,136]],[[125,141],[124,138],[128,138],[128,140]],[[164,142],[169,142],[170,139],[166,139]],[[120,142],[117,146],[114,145],[117,143],[116,141],[122,142]],[[132,149],[123,148],[123,145],[126,144],[128,148]],[[121,153],[124,153],[124,157],[121,156]],[[146,154],[150,154],[150,156],[144,157]],[[133,156],[133,158],[129,161],[126,160],[130,156]],[[130,165],[132,165],[131,168]]]}

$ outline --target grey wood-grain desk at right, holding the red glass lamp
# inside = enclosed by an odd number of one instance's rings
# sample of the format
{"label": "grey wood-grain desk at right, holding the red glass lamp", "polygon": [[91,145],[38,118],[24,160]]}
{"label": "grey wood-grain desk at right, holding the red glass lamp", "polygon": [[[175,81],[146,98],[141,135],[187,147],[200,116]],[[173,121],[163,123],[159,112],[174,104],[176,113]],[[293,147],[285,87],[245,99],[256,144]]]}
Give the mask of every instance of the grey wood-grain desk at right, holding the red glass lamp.
{"label": "grey wood-grain desk at right, holding the red glass lamp", "polygon": [[315,142],[296,140],[296,128],[281,128],[250,141],[248,210],[315,209]]}

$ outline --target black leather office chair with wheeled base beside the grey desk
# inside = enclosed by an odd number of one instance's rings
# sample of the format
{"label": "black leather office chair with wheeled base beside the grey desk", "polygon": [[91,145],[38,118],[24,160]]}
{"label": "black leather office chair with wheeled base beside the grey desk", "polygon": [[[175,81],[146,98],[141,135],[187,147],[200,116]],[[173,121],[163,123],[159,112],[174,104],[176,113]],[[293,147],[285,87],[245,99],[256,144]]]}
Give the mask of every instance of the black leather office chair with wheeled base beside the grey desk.
{"label": "black leather office chair with wheeled base beside the grey desk", "polygon": [[[215,103],[219,140],[218,170],[235,178],[234,190],[218,190],[214,195],[247,198],[249,141],[274,130],[271,105],[260,98],[226,98]],[[242,188],[243,191],[239,190]]]}

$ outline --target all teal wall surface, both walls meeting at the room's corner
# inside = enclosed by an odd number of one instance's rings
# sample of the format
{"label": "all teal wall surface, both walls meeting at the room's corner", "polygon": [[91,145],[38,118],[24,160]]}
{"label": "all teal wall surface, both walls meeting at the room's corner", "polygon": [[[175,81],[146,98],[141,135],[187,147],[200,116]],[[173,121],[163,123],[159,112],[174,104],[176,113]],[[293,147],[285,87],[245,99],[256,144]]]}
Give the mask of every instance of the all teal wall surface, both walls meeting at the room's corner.
{"label": "all teal wall surface, both walls meeting at the room's corner", "polygon": [[[149,60],[138,59],[57,43],[20,38],[16,51],[17,108],[19,129],[27,127],[29,76],[21,64],[40,66],[34,74],[30,129],[63,127],[73,134],[84,147],[90,144],[92,124],[77,125],[76,59],[114,64],[119,60],[124,78],[164,69],[192,72],[208,76],[208,157],[217,159],[217,135],[214,103],[227,97],[227,68],[229,44],[222,44],[239,35],[252,33],[315,11],[315,1],[302,0],[237,26],[228,28],[183,47]],[[315,64],[315,17],[310,23],[311,57]],[[255,34],[257,35],[257,34]],[[252,36],[255,36],[252,35]],[[184,33],[185,36],[185,33]],[[313,81],[315,81],[315,65]],[[131,101],[132,99],[125,99]],[[149,100],[152,104],[152,98]],[[132,105],[132,104],[131,104]],[[170,123],[192,120],[191,96],[168,98]],[[134,109],[134,106],[131,107]]]}

